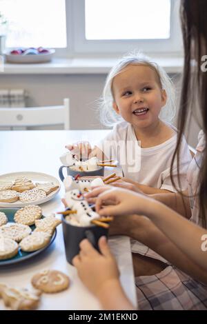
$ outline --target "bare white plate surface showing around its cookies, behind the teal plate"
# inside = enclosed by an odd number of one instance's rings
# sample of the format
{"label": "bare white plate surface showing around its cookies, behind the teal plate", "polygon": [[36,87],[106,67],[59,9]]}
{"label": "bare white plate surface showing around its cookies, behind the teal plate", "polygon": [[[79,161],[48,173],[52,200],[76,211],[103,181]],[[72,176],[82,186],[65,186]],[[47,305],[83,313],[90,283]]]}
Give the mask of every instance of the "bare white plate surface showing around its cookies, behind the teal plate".
{"label": "bare white plate surface showing around its cookies, behind the teal plate", "polygon": [[26,178],[32,180],[34,183],[53,182],[55,183],[55,185],[59,185],[59,188],[55,191],[50,192],[50,194],[48,194],[45,198],[33,202],[21,203],[20,201],[14,201],[14,203],[3,203],[0,201],[0,207],[18,208],[18,207],[24,207],[26,205],[40,205],[41,203],[46,203],[46,201],[52,199],[59,192],[61,188],[61,185],[59,181],[55,178],[55,176],[50,176],[49,174],[40,173],[40,172],[6,173],[0,176],[0,182],[14,181],[14,179],[16,179],[19,176],[26,176]]}

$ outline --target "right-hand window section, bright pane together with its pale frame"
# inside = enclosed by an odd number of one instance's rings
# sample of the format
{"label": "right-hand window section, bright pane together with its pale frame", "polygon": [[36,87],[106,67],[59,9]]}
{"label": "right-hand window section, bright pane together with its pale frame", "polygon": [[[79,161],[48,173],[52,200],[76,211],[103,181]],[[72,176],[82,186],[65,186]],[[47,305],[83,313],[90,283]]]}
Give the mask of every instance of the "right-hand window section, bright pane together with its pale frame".
{"label": "right-hand window section, bright pane together with its pale frame", "polygon": [[180,0],[75,1],[75,52],[180,53],[179,4]]}

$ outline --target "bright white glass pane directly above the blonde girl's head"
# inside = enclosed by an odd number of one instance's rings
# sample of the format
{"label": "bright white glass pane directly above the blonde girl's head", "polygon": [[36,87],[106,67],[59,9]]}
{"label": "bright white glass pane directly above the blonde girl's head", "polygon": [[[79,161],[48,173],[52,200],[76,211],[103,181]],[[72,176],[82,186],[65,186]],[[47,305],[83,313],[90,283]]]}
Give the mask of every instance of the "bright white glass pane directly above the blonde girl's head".
{"label": "bright white glass pane directly above the blonde girl's head", "polygon": [[169,39],[170,6],[170,0],[85,0],[86,39]]}

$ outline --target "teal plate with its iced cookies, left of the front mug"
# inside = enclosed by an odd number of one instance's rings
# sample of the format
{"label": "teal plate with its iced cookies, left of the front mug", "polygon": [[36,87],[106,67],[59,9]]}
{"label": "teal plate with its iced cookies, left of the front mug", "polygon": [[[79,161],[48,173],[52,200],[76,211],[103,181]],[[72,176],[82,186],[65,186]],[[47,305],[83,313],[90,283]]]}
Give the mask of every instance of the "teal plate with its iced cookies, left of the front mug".
{"label": "teal plate with its iced cookies, left of the front mug", "polygon": [[46,250],[55,240],[60,223],[54,214],[44,217],[38,205],[0,209],[0,267]]}

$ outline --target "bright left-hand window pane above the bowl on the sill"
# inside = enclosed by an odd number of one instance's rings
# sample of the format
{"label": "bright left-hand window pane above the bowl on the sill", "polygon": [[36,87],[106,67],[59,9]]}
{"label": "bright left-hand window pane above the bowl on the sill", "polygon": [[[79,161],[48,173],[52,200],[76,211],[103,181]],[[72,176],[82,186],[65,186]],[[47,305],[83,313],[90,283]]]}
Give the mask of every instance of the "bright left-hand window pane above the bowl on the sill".
{"label": "bright left-hand window pane above the bowl on the sill", "polygon": [[0,3],[1,12],[9,21],[8,48],[67,47],[65,0],[1,0]]}

